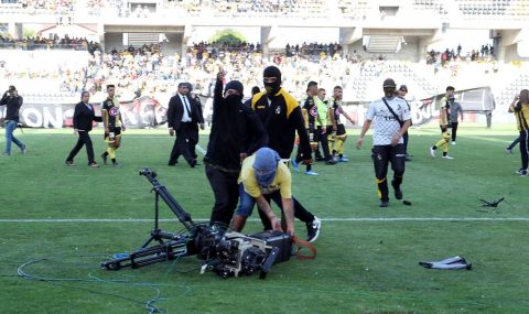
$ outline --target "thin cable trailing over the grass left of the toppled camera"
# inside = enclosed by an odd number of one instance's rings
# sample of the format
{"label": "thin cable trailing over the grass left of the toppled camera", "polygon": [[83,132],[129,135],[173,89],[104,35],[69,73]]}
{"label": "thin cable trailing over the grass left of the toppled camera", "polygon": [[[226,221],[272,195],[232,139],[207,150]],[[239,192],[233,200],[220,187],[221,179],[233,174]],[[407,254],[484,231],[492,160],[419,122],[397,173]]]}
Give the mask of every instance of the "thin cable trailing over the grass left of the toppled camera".
{"label": "thin cable trailing over the grass left of the toppled camera", "polygon": [[[94,256],[95,257],[95,256]],[[46,258],[42,258],[42,259],[36,259],[36,260],[32,260],[32,261],[29,261],[29,262],[25,262],[23,264],[21,264],[18,269],[17,269],[17,273],[19,274],[19,277],[23,278],[23,279],[26,279],[26,280],[33,280],[33,281],[41,281],[41,282],[50,282],[52,284],[56,284],[56,285],[61,285],[61,286],[66,286],[66,288],[73,288],[73,289],[77,289],[77,290],[82,290],[82,291],[86,291],[86,292],[89,292],[89,293],[94,293],[94,294],[99,294],[99,295],[108,295],[108,296],[114,296],[114,297],[118,297],[118,299],[122,299],[122,300],[126,300],[126,301],[129,301],[129,302],[132,302],[132,303],[137,303],[137,304],[142,304],[145,306],[147,311],[149,311],[149,314],[154,314],[154,313],[165,313],[165,310],[163,308],[160,308],[158,306],[155,306],[153,303],[158,302],[160,300],[160,289],[158,288],[154,288],[153,284],[150,284],[150,283],[130,283],[126,280],[102,280],[102,279],[99,279],[99,278],[96,278],[96,277],[93,277],[91,273],[88,274],[88,277],[90,279],[82,279],[82,278],[45,278],[45,277],[40,277],[40,275],[33,275],[33,274],[30,274],[28,272],[24,271],[24,269],[31,264],[36,264],[39,262],[42,262],[42,261],[48,261],[50,259],[46,259]],[[142,286],[148,286],[148,288],[151,288],[153,290],[156,291],[156,295],[151,299],[151,300],[148,300],[148,301],[139,301],[139,300],[134,300],[134,299],[131,299],[131,297],[127,297],[127,296],[123,296],[123,295],[119,295],[119,294],[115,294],[115,293],[107,293],[107,292],[100,292],[100,291],[97,291],[97,290],[91,290],[91,289],[87,289],[87,288],[82,288],[82,286],[75,286],[75,285],[71,285],[71,284],[64,284],[62,282],[85,282],[85,283],[118,283],[118,284],[131,284],[131,285],[142,285]]]}

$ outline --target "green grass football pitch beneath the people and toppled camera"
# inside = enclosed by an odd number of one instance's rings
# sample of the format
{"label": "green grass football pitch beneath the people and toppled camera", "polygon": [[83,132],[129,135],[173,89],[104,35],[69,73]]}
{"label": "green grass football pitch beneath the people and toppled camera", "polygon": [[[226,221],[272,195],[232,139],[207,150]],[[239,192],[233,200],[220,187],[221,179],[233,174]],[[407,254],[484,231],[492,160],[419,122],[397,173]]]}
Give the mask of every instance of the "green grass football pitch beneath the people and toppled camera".
{"label": "green grass football pitch beneath the people and toppled camera", "polygon": [[[149,313],[150,301],[165,313],[529,313],[529,177],[515,174],[519,152],[504,151],[514,126],[461,126],[452,161],[429,155],[438,126],[411,130],[402,188],[412,205],[391,199],[386,209],[378,208],[370,139],[358,151],[357,134],[349,133],[348,163],[315,163],[317,177],[293,173],[294,195],[323,219],[316,259],[274,266],[266,280],[223,280],[199,274],[195,257],[99,269],[112,253],[140,247],[152,228],[152,186],[141,167],[155,170],[194,219],[209,217],[204,165],[190,169],[181,159],[169,167],[166,130],[125,132],[120,169],[88,167],[85,150],[66,166],[72,130],[17,130],[28,154],[13,148],[0,159],[0,313]],[[101,131],[91,138],[100,162]],[[481,207],[481,198],[500,197],[497,210]],[[175,218],[165,205],[161,214]],[[177,221],[161,227],[182,229]],[[258,230],[255,219],[245,229]],[[305,234],[299,221],[296,232]],[[453,256],[473,270],[418,264]],[[34,280],[17,274],[24,263]]]}

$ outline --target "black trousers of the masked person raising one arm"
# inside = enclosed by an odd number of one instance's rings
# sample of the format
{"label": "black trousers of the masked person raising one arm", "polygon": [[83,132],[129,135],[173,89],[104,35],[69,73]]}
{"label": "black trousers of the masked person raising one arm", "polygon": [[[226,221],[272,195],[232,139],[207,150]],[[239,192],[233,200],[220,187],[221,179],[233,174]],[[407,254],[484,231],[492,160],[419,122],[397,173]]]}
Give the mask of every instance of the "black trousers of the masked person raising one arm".
{"label": "black trousers of the masked person raising one arm", "polygon": [[206,176],[212,185],[215,196],[209,223],[222,223],[229,226],[234,216],[237,202],[239,201],[239,185],[237,184],[238,173],[229,173],[210,165],[206,166]]}

